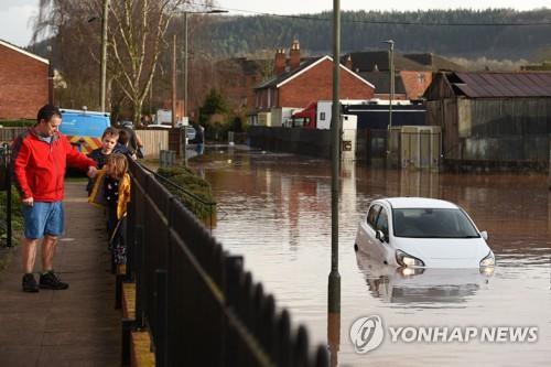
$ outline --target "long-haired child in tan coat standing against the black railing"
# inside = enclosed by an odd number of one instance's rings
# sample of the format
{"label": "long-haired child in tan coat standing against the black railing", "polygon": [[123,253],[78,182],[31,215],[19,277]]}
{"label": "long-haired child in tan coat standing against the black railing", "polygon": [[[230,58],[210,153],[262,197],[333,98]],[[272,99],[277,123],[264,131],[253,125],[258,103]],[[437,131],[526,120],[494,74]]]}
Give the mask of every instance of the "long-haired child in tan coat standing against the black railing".
{"label": "long-haired child in tan coat standing against the black railing", "polygon": [[111,270],[127,262],[127,207],[130,201],[130,175],[127,158],[109,154],[91,190],[88,203],[102,206],[107,212],[107,231],[111,251]]}

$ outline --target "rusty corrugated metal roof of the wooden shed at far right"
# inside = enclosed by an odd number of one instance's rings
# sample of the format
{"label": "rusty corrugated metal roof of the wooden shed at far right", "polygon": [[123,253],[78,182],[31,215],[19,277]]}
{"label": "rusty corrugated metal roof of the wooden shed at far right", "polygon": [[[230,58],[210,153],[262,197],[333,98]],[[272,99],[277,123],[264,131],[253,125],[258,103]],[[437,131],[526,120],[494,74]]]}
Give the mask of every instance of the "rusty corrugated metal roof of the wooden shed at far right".
{"label": "rusty corrugated metal roof of the wooden shed at far right", "polygon": [[462,83],[453,83],[465,96],[551,97],[551,73],[455,73]]}

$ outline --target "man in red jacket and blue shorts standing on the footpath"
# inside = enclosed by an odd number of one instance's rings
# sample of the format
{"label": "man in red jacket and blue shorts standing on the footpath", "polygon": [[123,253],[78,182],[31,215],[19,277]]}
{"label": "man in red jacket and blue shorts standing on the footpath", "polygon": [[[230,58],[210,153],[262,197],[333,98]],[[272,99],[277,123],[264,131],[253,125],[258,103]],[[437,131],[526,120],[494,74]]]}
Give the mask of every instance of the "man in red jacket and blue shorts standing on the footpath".
{"label": "man in red jacket and blue shorts standing on the footpath", "polygon": [[[60,109],[46,105],[39,110],[34,127],[13,142],[13,173],[23,203],[23,291],[43,289],[63,290],[68,284],[60,281],[53,270],[55,245],[63,234],[63,194],[67,165],[96,175],[96,162],[74,149],[58,131]],[[36,248],[42,241],[42,270],[39,284],[34,279]]]}

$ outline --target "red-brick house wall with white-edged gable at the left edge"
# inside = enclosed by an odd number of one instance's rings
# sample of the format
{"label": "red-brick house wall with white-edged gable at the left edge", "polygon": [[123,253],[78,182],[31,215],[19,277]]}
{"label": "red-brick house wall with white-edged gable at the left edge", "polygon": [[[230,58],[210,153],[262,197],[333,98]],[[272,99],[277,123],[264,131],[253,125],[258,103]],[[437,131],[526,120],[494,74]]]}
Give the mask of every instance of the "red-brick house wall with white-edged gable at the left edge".
{"label": "red-brick house wall with white-edged gable at the left edge", "polygon": [[0,119],[35,119],[50,100],[50,62],[0,40]]}

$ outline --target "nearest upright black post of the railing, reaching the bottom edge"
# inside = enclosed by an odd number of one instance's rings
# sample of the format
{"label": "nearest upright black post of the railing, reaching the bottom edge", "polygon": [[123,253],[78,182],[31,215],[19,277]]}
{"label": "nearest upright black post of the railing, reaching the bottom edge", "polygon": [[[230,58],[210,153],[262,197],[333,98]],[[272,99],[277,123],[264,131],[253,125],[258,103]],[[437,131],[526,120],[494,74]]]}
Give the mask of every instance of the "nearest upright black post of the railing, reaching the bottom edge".
{"label": "nearest upright black post of the railing, reaching the bottom edge", "polygon": [[169,364],[169,282],[165,269],[155,270],[156,330],[155,366],[168,367]]}

